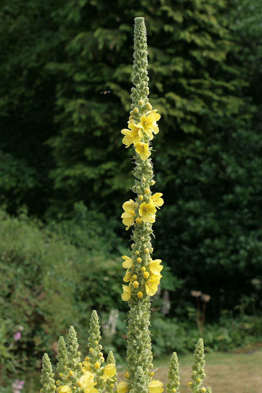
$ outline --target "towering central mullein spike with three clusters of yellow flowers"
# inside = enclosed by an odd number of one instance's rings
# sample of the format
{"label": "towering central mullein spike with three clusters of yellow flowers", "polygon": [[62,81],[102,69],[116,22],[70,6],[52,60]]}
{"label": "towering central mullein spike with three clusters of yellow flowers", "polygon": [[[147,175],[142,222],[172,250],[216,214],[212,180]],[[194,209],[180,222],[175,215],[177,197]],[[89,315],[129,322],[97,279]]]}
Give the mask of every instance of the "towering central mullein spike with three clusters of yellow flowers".
{"label": "towering central mullein spike with three clusters of yellow flowers", "polygon": [[[134,28],[134,65],[132,82],[132,105],[128,129],[121,130],[124,134],[123,143],[126,147],[133,144],[135,149],[135,184],[132,187],[136,193],[135,200],[130,199],[123,204],[124,213],[121,218],[126,229],[134,225],[131,236],[134,243],[131,245],[131,255],[124,255],[123,268],[126,269],[124,277],[122,299],[128,301],[130,311],[128,314],[127,327],[127,390],[136,391],[135,384],[139,383],[143,389],[148,390],[150,382],[150,369],[152,364],[152,351],[150,331],[150,296],[158,290],[161,279],[162,265],[160,259],[152,260],[150,253],[152,223],[156,219],[156,211],[163,205],[161,193],[152,195],[150,186],[155,184],[153,180],[153,166],[151,159],[151,141],[154,134],[158,133],[160,115],[152,110],[148,102],[148,76],[147,76],[147,32],[144,18],[135,18]],[[143,370],[143,375],[138,369]],[[136,378],[142,378],[143,383],[137,382]],[[157,385],[158,381],[153,384]],[[121,382],[124,384],[124,382]],[[161,382],[159,382],[161,384]],[[123,385],[124,386],[124,385]],[[124,387],[118,387],[119,393],[123,393]],[[160,389],[160,392],[163,390]]]}

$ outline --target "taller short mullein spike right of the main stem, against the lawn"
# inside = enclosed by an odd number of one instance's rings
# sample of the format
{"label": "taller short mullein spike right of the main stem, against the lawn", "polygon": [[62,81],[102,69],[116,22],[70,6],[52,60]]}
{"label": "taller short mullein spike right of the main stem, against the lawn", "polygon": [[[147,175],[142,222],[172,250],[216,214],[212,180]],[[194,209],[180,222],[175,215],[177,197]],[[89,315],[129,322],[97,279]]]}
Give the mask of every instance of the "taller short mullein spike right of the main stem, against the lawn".
{"label": "taller short mullein spike right of the main stem, against the lawn", "polygon": [[[205,360],[204,360],[204,343],[203,339],[200,338],[196,343],[196,350],[194,351],[193,360],[194,363],[192,365],[192,374],[191,378],[194,381],[189,382],[188,386],[191,388],[192,393],[205,393],[207,389],[205,387],[200,387],[203,384],[203,379],[205,378]],[[209,391],[211,390],[208,388]]]}

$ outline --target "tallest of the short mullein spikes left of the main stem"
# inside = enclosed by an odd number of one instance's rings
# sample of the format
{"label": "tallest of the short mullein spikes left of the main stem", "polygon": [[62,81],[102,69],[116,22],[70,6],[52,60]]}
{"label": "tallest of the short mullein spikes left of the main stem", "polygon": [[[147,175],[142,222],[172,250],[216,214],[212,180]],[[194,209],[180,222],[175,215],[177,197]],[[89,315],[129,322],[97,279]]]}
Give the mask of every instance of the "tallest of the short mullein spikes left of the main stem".
{"label": "tallest of the short mullein spikes left of the main stem", "polygon": [[[96,382],[95,388],[99,391],[99,393],[103,392],[106,387],[106,378],[104,377],[104,370],[100,366],[104,362],[102,345],[99,344],[101,340],[100,334],[100,325],[99,325],[99,317],[97,315],[96,310],[92,311],[90,318],[90,329],[88,331],[88,347],[89,347],[89,363],[92,367],[92,372],[95,375],[94,382]],[[101,378],[103,377],[103,378]]]}

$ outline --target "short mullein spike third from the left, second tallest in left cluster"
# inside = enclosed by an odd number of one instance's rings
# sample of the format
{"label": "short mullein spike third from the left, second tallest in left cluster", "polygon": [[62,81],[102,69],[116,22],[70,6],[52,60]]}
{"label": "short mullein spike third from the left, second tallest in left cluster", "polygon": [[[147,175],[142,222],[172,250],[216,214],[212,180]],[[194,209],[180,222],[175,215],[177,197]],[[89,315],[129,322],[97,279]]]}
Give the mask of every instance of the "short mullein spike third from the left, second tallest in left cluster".
{"label": "short mullein spike third from the left, second tallest in left cluster", "polygon": [[80,362],[81,353],[78,351],[79,344],[77,342],[77,333],[73,326],[70,326],[66,339],[66,352],[68,356],[67,366],[69,370],[66,375],[66,386],[73,386],[75,392],[78,393],[81,390],[78,381],[82,375],[82,363]]}

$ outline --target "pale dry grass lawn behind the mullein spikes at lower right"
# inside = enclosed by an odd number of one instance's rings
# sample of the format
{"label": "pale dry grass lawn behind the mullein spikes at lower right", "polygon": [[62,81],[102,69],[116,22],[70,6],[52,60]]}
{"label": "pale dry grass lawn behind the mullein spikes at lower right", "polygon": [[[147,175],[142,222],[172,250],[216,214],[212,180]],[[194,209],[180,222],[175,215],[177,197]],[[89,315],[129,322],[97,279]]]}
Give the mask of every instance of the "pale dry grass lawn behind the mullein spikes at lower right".
{"label": "pale dry grass lawn behind the mullein spikes at lower right", "polygon": [[[191,380],[191,354],[178,356],[180,362],[180,393],[190,393],[187,383]],[[211,386],[212,393],[261,393],[262,392],[262,350],[242,351],[238,353],[207,353],[205,356],[206,378],[203,386]],[[168,356],[154,360],[158,367],[155,379],[167,382],[169,367]],[[125,381],[122,370],[119,380]],[[163,386],[164,387],[164,386]]]}

